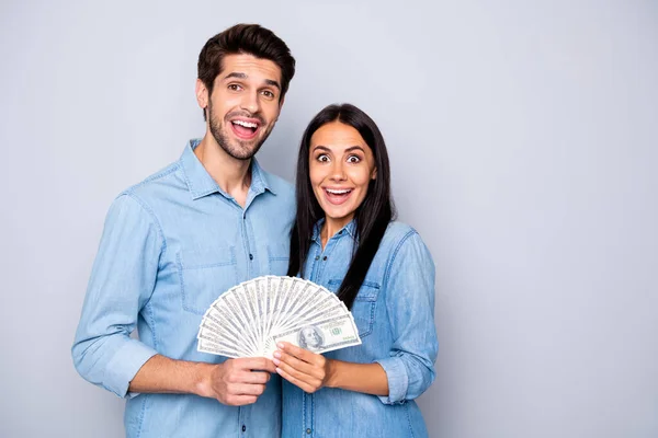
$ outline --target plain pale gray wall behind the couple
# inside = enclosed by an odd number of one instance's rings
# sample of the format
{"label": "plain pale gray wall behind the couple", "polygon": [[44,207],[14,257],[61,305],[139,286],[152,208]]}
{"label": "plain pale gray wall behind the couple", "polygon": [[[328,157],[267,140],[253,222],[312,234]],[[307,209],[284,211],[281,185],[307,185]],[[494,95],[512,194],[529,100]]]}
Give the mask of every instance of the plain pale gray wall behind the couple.
{"label": "plain pale gray wall behind the couple", "polygon": [[438,266],[433,437],[658,435],[655,1],[0,5],[0,436],[117,437],[69,348],[103,219],[203,134],[205,41],[260,22],[297,76],[259,154],[351,102]]}

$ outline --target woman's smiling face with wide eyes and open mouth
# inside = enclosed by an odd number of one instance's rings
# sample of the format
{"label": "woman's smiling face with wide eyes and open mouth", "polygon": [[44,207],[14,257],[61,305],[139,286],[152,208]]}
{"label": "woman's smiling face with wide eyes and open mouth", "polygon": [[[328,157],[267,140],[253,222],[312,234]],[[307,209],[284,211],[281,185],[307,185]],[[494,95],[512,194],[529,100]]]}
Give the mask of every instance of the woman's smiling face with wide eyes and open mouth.
{"label": "woman's smiling face with wide eyes and open mouth", "polygon": [[331,122],[310,137],[310,185],[327,222],[344,227],[377,175],[373,151],[350,125]]}

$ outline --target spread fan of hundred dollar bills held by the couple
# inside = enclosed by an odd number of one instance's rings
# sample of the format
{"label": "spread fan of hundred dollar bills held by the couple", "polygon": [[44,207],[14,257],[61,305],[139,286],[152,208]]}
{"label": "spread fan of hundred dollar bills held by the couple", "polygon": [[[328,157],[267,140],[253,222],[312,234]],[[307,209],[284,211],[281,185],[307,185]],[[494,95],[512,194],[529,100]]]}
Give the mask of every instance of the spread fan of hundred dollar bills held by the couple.
{"label": "spread fan of hundred dollar bills held by the couple", "polygon": [[197,349],[271,358],[281,341],[314,353],[361,344],[352,313],[326,288],[296,277],[264,276],[222,293],[201,320]]}

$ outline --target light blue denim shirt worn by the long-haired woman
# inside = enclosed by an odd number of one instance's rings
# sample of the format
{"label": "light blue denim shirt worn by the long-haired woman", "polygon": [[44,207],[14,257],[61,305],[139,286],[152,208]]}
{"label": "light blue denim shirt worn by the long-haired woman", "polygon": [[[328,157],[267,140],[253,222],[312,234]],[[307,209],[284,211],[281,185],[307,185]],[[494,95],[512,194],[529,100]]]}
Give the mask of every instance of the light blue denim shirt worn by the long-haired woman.
{"label": "light blue denim shirt worn by the long-haired woman", "polygon": [[[354,241],[350,222],[320,243],[320,223],[304,269],[336,292],[348,272]],[[420,235],[392,222],[352,307],[362,345],[326,353],[330,359],[378,362],[388,396],[322,388],[308,394],[283,382],[283,437],[427,437],[415,399],[434,380],[434,263]]]}

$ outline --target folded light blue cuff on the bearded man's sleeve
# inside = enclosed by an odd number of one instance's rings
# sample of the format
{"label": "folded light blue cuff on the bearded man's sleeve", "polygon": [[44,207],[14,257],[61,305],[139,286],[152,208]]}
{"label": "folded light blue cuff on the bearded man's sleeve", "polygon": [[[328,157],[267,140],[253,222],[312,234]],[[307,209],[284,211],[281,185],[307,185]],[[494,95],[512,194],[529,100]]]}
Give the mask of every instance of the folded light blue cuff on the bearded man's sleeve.
{"label": "folded light blue cuff on the bearded man's sleeve", "polygon": [[137,339],[128,339],[115,354],[105,369],[103,387],[120,397],[132,399],[138,393],[128,393],[131,381],[144,364],[158,351]]}

